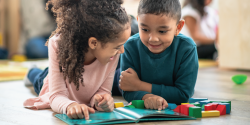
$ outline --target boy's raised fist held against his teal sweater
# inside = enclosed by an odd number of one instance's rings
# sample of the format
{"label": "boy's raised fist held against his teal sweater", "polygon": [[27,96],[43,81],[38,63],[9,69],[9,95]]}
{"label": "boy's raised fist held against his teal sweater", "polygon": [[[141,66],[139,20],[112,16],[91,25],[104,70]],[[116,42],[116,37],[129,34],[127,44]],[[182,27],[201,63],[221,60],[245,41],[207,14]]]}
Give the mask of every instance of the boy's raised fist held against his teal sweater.
{"label": "boy's raised fist held against his teal sweater", "polygon": [[123,91],[139,91],[140,81],[137,73],[132,68],[128,68],[121,72],[119,87]]}

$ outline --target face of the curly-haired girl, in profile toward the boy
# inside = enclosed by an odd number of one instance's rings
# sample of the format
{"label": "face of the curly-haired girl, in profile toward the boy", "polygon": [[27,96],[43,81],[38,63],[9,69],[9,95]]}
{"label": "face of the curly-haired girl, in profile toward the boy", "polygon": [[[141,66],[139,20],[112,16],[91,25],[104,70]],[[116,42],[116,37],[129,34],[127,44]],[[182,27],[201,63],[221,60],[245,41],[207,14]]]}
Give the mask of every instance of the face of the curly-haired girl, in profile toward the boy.
{"label": "face of the curly-haired girl, in profile toward the boy", "polygon": [[93,55],[103,65],[114,59],[114,56],[120,53],[124,53],[124,44],[128,40],[131,34],[131,28],[127,28],[123,31],[117,39],[112,42],[107,42],[105,45],[101,45],[98,42],[96,48],[93,50]]}

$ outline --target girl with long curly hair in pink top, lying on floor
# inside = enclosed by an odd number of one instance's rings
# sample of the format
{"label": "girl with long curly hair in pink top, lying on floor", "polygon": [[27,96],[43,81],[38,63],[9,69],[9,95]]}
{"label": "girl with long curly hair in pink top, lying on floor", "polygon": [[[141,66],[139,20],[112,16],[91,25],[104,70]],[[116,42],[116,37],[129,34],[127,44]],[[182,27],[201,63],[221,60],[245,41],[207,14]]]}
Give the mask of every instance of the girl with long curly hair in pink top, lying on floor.
{"label": "girl with long curly hair in pink top, lying on floor", "polygon": [[[48,41],[49,70],[32,109],[52,108],[70,118],[110,112],[111,88],[119,54],[129,38],[129,18],[122,0],[50,0],[57,29]],[[29,77],[29,74],[28,74]],[[32,80],[31,80],[32,81]],[[35,86],[34,86],[35,87]]]}

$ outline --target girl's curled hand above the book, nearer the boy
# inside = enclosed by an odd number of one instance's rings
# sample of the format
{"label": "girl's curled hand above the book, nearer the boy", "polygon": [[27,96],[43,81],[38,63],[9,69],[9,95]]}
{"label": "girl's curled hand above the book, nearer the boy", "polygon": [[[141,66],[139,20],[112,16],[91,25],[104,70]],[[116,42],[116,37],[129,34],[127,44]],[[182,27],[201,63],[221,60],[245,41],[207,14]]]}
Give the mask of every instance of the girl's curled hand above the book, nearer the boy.
{"label": "girl's curled hand above the book, nearer the boy", "polygon": [[112,112],[114,110],[114,100],[110,94],[96,94],[93,98],[98,111]]}

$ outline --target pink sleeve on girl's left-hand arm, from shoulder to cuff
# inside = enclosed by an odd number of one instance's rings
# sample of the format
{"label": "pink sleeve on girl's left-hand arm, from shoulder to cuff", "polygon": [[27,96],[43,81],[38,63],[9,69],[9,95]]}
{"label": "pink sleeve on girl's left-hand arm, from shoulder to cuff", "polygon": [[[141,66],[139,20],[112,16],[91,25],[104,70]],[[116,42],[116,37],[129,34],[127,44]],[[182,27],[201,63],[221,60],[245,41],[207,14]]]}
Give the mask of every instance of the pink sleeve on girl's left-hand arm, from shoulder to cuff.
{"label": "pink sleeve on girl's left-hand arm, from shoulder to cuff", "polygon": [[[55,37],[55,36],[54,36]],[[69,92],[63,74],[59,69],[59,61],[57,60],[57,42],[55,38],[49,40],[49,91],[50,106],[57,113],[66,114],[68,105],[75,102],[68,98]]]}

